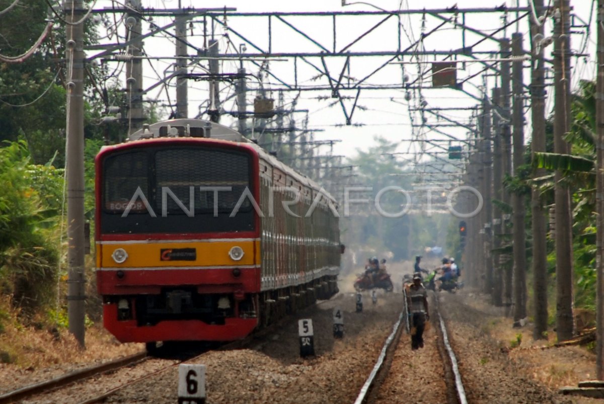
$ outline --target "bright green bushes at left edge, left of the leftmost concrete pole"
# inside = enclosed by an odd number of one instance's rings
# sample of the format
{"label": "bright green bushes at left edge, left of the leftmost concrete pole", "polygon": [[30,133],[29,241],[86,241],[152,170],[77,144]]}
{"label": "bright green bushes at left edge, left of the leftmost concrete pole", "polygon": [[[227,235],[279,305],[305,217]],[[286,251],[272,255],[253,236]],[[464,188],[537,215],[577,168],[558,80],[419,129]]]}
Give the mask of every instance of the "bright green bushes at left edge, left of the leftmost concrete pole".
{"label": "bright green bushes at left edge, left of the leftmost concrete pole", "polygon": [[31,164],[25,142],[5,144],[0,188],[0,285],[27,311],[53,295],[63,170]]}

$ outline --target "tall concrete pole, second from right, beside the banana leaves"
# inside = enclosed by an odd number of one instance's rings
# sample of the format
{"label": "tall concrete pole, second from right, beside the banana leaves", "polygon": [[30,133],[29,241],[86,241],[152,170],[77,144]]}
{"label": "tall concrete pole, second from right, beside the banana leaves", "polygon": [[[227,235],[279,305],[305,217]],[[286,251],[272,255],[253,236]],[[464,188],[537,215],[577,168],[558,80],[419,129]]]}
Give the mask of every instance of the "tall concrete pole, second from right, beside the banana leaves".
{"label": "tall concrete pole, second from right, beside the banana leaves", "polygon": [[[568,154],[563,136],[570,129],[570,1],[554,0],[559,11],[554,22],[554,153]],[[573,239],[570,190],[554,174],[556,202],[556,335],[558,341],[573,338]]]}

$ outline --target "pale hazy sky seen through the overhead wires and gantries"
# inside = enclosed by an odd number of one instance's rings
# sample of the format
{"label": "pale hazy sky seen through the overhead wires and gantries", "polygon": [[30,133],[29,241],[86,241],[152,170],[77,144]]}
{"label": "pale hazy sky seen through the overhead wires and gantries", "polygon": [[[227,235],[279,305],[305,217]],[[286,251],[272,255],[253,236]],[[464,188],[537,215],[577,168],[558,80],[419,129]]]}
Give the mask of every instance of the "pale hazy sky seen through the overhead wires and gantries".
{"label": "pale hazy sky seen through the overhead wires and gantries", "polygon": [[[368,3],[352,3],[347,1],[350,5],[342,6],[341,1],[334,0],[323,0],[316,1],[310,0],[305,2],[300,1],[214,1],[207,0],[204,2],[201,1],[193,1],[193,0],[142,0],[144,7],[155,7],[155,8],[176,8],[179,7],[179,3],[182,7],[233,7],[237,8],[238,12],[268,12],[268,11],[376,11],[377,8],[384,8],[386,10],[398,10],[402,9],[422,9],[422,8],[445,8],[451,7],[455,1],[440,1],[440,0],[431,0],[431,1],[414,1],[414,0],[405,0],[405,1],[394,1],[394,0],[383,0],[383,1],[371,1]],[[497,1],[486,1],[486,0],[466,0],[461,1],[458,0],[457,6],[458,8],[491,8],[499,6],[503,3],[503,0]],[[111,2],[109,0],[99,0],[95,8],[108,7]],[[508,0],[506,4],[509,7],[516,6],[517,2],[515,0]],[[580,16],[583,21],[588,21],[590,18],[590,10],[593,2],[591,0],[571,0],[571,5],[573,5],[574,13],[577,16]],[[521,7],[526,7],[528,5],[527,0],[519,0],[519,5]],[[450,14],[449,14],[450,15]],[[491,33],[494,30],[498,29],[502,25],[501,21],[502,14],[500,13],[485,13],[485,14],[467,14],[466,24],[472,28],[477,30],[481,30],[484,33]],[[507,21],[512,21],[516,17],[515,13],[507,13]],[[364,33],[368,28],[372,27],[377,22],[381,21],[383,16],[371,16],[364,18],[348,18],[341,19],[338,21],[338,28],[336,37],[338,38],[338,47],[345,45],[345,43],[351,42],[351,40],[355,39],[360,34]],[[308,34],[313,39],[317,40],[317,42],[321,42],[322,45],[325,45],[329,48],[331,46],[332,41],[332,25],[330,19],[326,18],[309,18],[309,17],[289,17],[287,18],[288,22],[295,25],[304,31],[304,33]],[[397,46],[397,37],[393,36],[393,33],[396,33],[397,21],[396,19],[392,19],[393,21],[389,21],[390,25],[384,24],[381,28],[376,30],[374,33],[368,35],[362,40],[359,40],[358,43],[351,46],[351,51],[395,51]],[[596,30],[595,28],[595,16],[591,18],[592,20],[592,30],[591,37],[588,38],[583,34],[575,34],[572,37],[572,48],[574,51],[579,52],[585,48],[584,53],[589,53],[589,57],[581,57],[581,58],[573,58],[573,83],[576,83],[579,77],[586,79],[593,79],[595,76],[595,41],[596,41]],[[261,46],[265,46],[266,42],[266,32],[268,27],[266,26],[267,19],[254,19],[254,18],[231,18],[228,19],[228,25],[234,30],[243,33],[248,39],[252,40],[252,42],[258,43]],[[461,16],[459,20],[461,22]],[[155,22],[158,25],[169,24],[169,19],[167,18],[155,18]],[[401,34],[402,47],[406,48],[406,46],[410,45],[410,40],[417,40],[422,32],[422,14],[412,14],[410,16],[402,16],[400,22],[403,27],[403,31]],[[441,21],[435,19],[431,16],[426,16],[425,18],[425,32],[428,32],[435,28],[440,24]],[[518,26],[513,25],[509,27],[506,31],[507,36],[511,36],[511,34],[516,31],[516,28],[521,33],[527,34],[528,32],[528,19],[523,19]],[[148,25],[143,25],[143,32],[145,33],[148,30]],[[118,30],[120,33],[124,32],[123,24],[118,24]],[[272,21],[272,30],[273,30],[273,50],[281,50],[281,51],[316,51],[318,48],[313,45],[309,40],[303,39],[300,34],[295,33],[291,28],[287,27],[281,22]],[[545,31],[546,36],[551,34],[551,19],[545,23]],[[574,28],[574,31],[585,31],[582,28]],[[225,39],[225,37],[220,34],[224,34],[225,30],[217,28],[216,31],[219,34],[220,38],[220,49],[225,50],[227,46],[230,46],[228,50],[230,52],[234,52],[234,48],[239,48],[240,43],[243,40],[234,37],[233,34],[230,35],[231,43]],[[193,37],[190,37],[191,43],[194,45],[201,47],[203,43],[202,37],[202,28],[201,24],[194,25],[193,28]],[[501,33],[498,34],[498,37],[501,37]],[[477,36],[474,33],[466,32],[466,45],[472,44],[480,40],[481,37]],[[583,46],[583,42],[586,42],[586,45]],[[423,41],[423,49],[426,51],[439,50],[454,50],[460,48],[462,45],[462,31],[460,28],[455,28],[453,24],[447,24],[439,29],[439,31],[431,34],[426,37]],[[174,55],[174,43],[173,39],[170,37],[160,37],[157,39],[146,39],[145,40],[145,51],[149,56],[173,56]],[[251,46],[246,45],[248,50],[251,49]],[[475,50],[496,50],[497,49],[496,42],[492,40],[486,40],[478,45]],[[525,37],[524,48],[528,49],[528,36]],[[551,57],[551,51],[553,50],[553,46],[550,46],[546,50],[546,56]],[[190,51],[190,53],[192,53]],[[90,54],[90,53],[89,53]],[[437,57],[438,59],[443,59],[443,56]],[[403,58],[406,62],[411,62],[411,57]],[[387,83],[400,83],[404,74],[408,75],[410,80],[415,80],[418,75],[419,66],[422,69],[429,68],[429,62],[434,60],[434,57],[420,57],[420,65],[417,64],[417,59],[413,59],[414,63],[406,64],[406,65],[388,65],[381,72],[376,74],[374,77],[371,77],[367,82],[371,84],[387,84]],[[458,60],[464,60],[460,58]],[[469,60],[469,59],[465,59]],[[170,63],[169,61],[161,61],[161,62],[153,62],[156,71],[161,76],[164,71],[170,71]],[[321,66],[320,59],[313,59],[313,63],[318,66]],[[339,75],[339,72],[344,66],[345,58],[332,58],[327,60],[327,66],[332,75],[336,77]],[[384,58],[377,57],[363,57],[358,60],[353,60],[350,69],[350,75],[352,77],[360,78],[365,77],[368,72],[373,71],[377,66],[384,63]],[[223,72],[236,72],[236,69],[239,67],[239,62],[230,62],[226,61],[221,63]],[[527,63],[525,63],[527,65]],[[115,63],[114,65],[115,66]],[[257,74],[259,68],[255,65],[252,65],[251,62],[244,62],[244,67],[248,70],[248,72],[252,72]],[[404,67],[405,71],[402,71]],[[154,82],[158,80],[158,76],[155,75],[155,72],[150,69],[150,66],[145,63],[144,64],[144,88],[149,87]],[[473,74],[477,74],[483,68],[479,63],[466,63],[466,65],[458,66],[458,80],[469,77]],[[285,80],[286,82],[292,83],[294,81],[293,77],[293,62],[289,61],[272,61],[269,63],[270,71],[275,74],[277,77]],[[327,85],[327,80],[323,77],[321,79],[316,79],[317,71],[312,67],[301,63],[298,60],[298,83],[304,85],[316,85],[323,84]],[[201,72],[200,69],[196,70],[197,72]],[[427,80],[427,79],[426,79]],[[490,76],[486,79],[487,87],[492,88],[495,83],[495,77]],[[528,83],[530,80],[530,71],[529,69],[525,69],[524,71],[524,81]],[[551,80],[550,80],[551,81]],[[175,82],[170,82],[170,84],[174,85]],[[464,89],[472,94],[480,97],[481,94],[481,86],[483,86],[483,77],[479,75],[474,79],[471,79],[466,85]],[[256,83],[249,83],[249,86],[253,88],[257,88]],[[263,80],[264,88],[269,91],[269,95],[272,98],[275,98],[275,102],[278,98],[277,92],[270,92],[271,88],[277,88],[278,83],[276,80],[269,77],[268,79]],[[207,100],[208,92],[207,92],[207,83],[205,82],[189,82],[189,115],[193,117],[199,111],[199,104]],[[175,93],[173,91],[173,87],[169,90],[170,99],[173,101],[175,99]],[[230,97],[233,94],[233,88],[228,88],[227,86],[223,86],[221,92],[221,98],[225,99]],[[475,100],[467,95],[463,94],[460,91],[455,91],[451,89],[430,89],[429,83],[426,81],[425,88],[423,88],[421,92],[424,97],[426,103],[429,106],[434,107],[458,107],[458,106],[474,106],[477,104]],[[248,102],[251,103],[255,94],[248,95]],[[295,97],[297,93],[288,92],[284,94],[285,103],[291,103],[292,98]],[[342,95],[347,97],[355,97],[356,91],[342,91]],[[336,99],[329,98],[330,91],[305,91],[302,92],[300,98],[298,99],[297,109],[308,109],[308,124],[310,129],[321,129],[323,132],[316,132],[315,139],[341,139],[341,142],[334,146],[334,153],[336,155],[354,155],[356,149],[366,150],[373,144],[373,137],[376,135],[384,136],[385,138],[390,139],[394,142],[400,142],[399,151],[407,151],[407,150],[419,150],[419,144],[414,143],[410,145],[410,140],[413,138],[417,138],[419,135],[419,129],[415,129],[415,132],[412,131],[412,127],[410,125],[410,111],[409,104],[411,106],[416,106],[419,104],[420,94],[417,91],[410,92],[411,100],[408,102],[405,100],[405,91],[402,90],[379,90],[379,91],[362,91],[358,100],[358,106],[355,110],[355,113],[352,118],[352,123],[354,124],[362,124],[360,127],[351,127],[351,126],[341,126],[345,124],[345,117],[342,112],[341,106],[338,103],[330,106]],[[550,95],[553,95],[553,89],[550,91]],[[161,89],[156,89],[148,94],[149,98],[159,98],[161,100],[166,100],[167,96],[165,95],[165,91],[161,91]],[[317,98],[321,98],[320,100]],[[347,105],[348,110],[350,111],[350,107],[352,107],[352,101],[346,100],[345,104]],[[551,105],[550,105],[551,106]],[[226,101],[224,104],[226,110],[236,110],[236,104],[234,104],[234,98]],[[202,108],[202,109],[205,109]],[[413,115],[413,114],[411,114]],[[455,120],[463,121],[464,123],[472,123],[469,112],[467,111],[449,111],[446,112],[445,115],[449,118],[454,118]],[[306,114],[297,113],[295,114],[295,120],[297,122],[297,126],[301,127],[303,121],[306,119]],[[414,120],[416,123],[419,123],[419,115],[414,115]],[[428,118],[429,122],[435,123],[435,118]],[[233,121],[233,118],[225,116],[222,118],[221,123],[229,124]],[[444,123],[443,120],[440,123]],[[530,121],[528,121],[530,124]],[[286,122],[288,124],[288,122]],[[464,137],[466,135],[467,130],[453,129],[448,127],[443,127],[442,130],[451,135]],[[426,136],[426,138],[440,138],[445,139],[446,137],[443,135],[438,135],[436,133],[424,132],[422,136]],[[525,136],[528,138],[530,136],[530,127],[527,127],[525,130]],[[323,149],[326,151],[326,149]]]}

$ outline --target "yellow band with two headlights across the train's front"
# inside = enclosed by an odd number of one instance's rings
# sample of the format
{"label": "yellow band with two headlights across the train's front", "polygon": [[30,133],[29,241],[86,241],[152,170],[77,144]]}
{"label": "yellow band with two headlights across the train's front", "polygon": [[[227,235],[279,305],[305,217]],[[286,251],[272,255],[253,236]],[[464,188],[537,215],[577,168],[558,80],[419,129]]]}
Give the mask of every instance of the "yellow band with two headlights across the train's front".
{"label": "yellow band with two headlights across the train's front", "polygon": [[[235,259],[240,255],[236,247],[243,251],[239,260]],[[259,240],[97,243],[97,268],[260,265],[259,252]]]}

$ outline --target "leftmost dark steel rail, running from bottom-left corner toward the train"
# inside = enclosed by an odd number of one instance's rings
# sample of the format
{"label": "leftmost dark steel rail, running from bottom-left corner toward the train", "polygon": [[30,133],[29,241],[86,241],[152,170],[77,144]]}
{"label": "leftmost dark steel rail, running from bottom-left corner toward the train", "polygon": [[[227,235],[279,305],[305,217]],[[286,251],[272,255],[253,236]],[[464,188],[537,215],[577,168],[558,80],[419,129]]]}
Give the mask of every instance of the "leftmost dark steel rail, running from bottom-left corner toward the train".
{"label": "leftmost dark steel rail, running from bottom-left corner toward the train", "polygon": [[148,358],[149,356],[147,356],[147,352],[143,351],[130,356],[126,356],[125,358],[116,359],[115,361],[106,362],[98,366],[73,371],[68,374],[64,374],[63,376],[55,377],[54,379],[45,380],[44,382],[34,383],[33,385],[28,385],[17,390],[2,394],[0,396],[0,404],[12,403],[17,400],[24,399],[25,397],[34,396],[35,394],[41,394],[45,391],[65,386],[72,382],[88,379],[88,377],[94,376],[95,374],[106,373],[108,371],[123,368],[127,365],[146,361]]}

